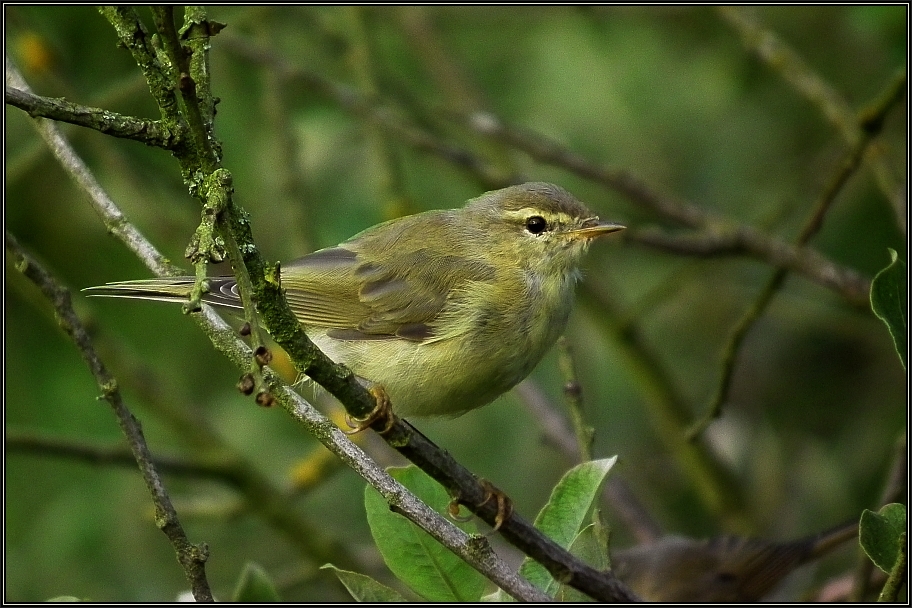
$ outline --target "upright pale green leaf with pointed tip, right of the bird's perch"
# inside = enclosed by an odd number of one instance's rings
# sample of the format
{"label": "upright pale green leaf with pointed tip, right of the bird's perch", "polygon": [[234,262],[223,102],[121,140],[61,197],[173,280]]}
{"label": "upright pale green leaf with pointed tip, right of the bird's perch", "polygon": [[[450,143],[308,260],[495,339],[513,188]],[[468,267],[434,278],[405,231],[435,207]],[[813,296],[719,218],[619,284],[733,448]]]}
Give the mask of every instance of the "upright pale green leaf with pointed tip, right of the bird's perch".
{"label": "upright pale green leaf with pointed tip, right of the bird's perch", "polygon": [[[615,461],[617,456],[584,462],[570,469],[535,518],[535,527],[561,547],[568,548],[586,523],[586,515]],[[557,581],[538,562],[526,558],[519,573],[548,595],[553,597],[557,592]]]}

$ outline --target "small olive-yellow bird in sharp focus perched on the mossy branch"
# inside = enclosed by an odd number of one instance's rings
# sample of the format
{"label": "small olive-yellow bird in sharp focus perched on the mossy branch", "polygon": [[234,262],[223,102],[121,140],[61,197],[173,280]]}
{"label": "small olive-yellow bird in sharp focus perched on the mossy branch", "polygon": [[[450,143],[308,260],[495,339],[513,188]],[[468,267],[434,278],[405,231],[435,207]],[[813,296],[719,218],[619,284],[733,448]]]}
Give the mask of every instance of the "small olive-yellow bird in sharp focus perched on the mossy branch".
{"label": "small olive-yellow bird in sharp focus perched on the mossy branch", "polygon": [[[622,230],[569,192],[527,183],[460,209],[378,224],[281,269],[288,304],[334,361],[381,385],[400,416],[458,415],[523,378],[564,331],[589,243]],[[204,301],[239,307],[232,277]],[[179,301],[193,277],[92,295]]]}

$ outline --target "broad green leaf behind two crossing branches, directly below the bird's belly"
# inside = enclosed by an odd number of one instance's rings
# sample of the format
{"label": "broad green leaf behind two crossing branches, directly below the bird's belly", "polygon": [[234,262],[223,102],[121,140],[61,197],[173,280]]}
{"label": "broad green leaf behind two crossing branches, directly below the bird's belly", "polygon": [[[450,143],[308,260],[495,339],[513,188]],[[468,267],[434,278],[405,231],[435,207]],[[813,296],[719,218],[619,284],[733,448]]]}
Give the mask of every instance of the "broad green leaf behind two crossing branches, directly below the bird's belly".
{"label": "broad green leaf behind two crossing branches, directly below the bird's belly", "polygon": [[[388,471],[429,507],[446,512],[450,497],[423,471],[415,466]],[[371,486],[365,488],[364,506],[383,561],[399,580],[428,601],[478,601],[486,579],[477,570],[405,517],[390,511],[386,500]],[[467,532],[473,528],[460,527]]]}

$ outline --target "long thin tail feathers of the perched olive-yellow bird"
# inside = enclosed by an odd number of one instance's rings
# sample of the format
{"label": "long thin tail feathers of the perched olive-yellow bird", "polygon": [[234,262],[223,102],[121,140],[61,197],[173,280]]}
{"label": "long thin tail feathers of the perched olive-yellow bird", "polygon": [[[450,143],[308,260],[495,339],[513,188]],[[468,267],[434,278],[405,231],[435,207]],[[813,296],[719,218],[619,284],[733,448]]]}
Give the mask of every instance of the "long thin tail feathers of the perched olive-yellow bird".
{"label": "long thin tail feathers of the perched olive-yellow bird", "polygon": [[[218,306],[241,308],[241,299],[237,292],[237,281],[234,277],[209,277],[209,292],[203,296],[203,302]],[[117,281],[97,287],[86,287],[82,291],[89,296],[102,298],[131,298],[135,300],[153,300],[158,302],[185,302],[193,289],[193,277],[171,277],[165,279],[139,279],[136,281]]]}

